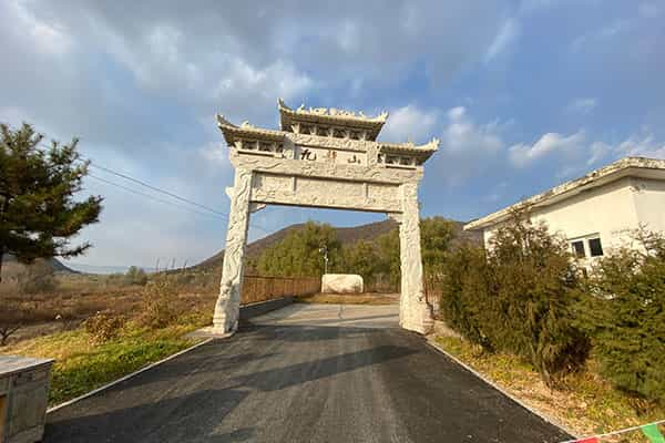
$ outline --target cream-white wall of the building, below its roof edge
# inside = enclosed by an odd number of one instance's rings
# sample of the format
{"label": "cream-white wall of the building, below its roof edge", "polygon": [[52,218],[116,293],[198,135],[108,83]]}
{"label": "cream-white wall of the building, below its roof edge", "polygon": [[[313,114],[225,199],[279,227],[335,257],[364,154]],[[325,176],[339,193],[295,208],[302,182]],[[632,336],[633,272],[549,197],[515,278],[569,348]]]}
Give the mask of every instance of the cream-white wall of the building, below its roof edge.
{"label": "cream-white wall of the building, below its roof edge", "polygon": [[[632,246],[632,230],[647,223],[665,231],[665,182],[625,177],[532,210],[534,222],[546,223],[551,233],[570,241],[582,239],[590,257],[589,238],[600,237],[606,255]],[[485,246],[499,225],[484,230]]]}

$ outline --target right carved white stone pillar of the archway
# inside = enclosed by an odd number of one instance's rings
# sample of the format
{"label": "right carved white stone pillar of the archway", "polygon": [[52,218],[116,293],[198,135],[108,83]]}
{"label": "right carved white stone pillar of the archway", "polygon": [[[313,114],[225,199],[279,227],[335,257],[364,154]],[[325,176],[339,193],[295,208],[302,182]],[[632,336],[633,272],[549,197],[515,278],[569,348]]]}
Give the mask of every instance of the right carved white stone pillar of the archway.
{"label": "right carved white stone pillar of the archway", "polygon": [[401,265],[401,296],[399,323],[411,331],[427,333],[433,323],[431,307],[427,305],[422,282],[422,257],[420,254],[420,214],[418,184],[406,183],[402,192],[402,214],[399,225]]}

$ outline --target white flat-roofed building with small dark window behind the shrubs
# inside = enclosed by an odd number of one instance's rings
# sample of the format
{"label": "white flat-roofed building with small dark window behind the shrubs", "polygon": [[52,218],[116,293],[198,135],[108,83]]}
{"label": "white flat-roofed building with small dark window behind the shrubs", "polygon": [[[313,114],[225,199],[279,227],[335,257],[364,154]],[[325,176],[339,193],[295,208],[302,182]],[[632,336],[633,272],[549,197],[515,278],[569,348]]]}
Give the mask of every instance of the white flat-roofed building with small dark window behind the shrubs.
{"label": "white flat-roofed building with small dark window behind the shrubs", "polygon": [[641,226],[665,231],[665,161],[625,157],[585,176],[473,220],[485,247],[511,209],[531,208],[533,222],[570,243],[579,258],[600,257],[617,247],[634,247]]}

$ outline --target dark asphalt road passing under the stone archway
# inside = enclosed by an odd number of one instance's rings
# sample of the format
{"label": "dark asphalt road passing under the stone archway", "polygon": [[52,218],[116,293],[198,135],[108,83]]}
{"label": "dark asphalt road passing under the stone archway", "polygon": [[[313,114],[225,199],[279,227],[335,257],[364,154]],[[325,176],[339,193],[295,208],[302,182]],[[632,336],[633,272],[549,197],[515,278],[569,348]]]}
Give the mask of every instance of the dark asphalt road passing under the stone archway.
{"label": "dark asphalt road passing under the stone archway", "polygon": [[44,442],[559,442],[397,327],[396,306],[294,305],[48,415]]}

